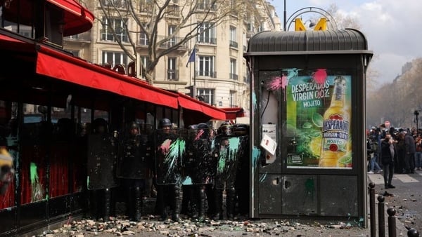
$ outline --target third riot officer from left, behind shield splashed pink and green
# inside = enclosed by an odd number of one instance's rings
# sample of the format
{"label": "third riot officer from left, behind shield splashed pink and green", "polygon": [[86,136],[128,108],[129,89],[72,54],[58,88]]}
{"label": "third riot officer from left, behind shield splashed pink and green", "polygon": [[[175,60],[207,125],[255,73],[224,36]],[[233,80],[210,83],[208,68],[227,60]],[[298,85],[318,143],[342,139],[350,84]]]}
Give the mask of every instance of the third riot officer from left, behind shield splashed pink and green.
{"label": "third riot officer from left, behind shield splashed pink and green", "polygon": [[179,135],[172,130],[168,118],[160,119],[155,130],[155,186],[157,189],[156,211],[161,220],[167,219],[167,207],[172,209],[172,219],[180,219],[181,162],[179,154],[172,152]]}

